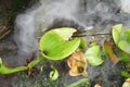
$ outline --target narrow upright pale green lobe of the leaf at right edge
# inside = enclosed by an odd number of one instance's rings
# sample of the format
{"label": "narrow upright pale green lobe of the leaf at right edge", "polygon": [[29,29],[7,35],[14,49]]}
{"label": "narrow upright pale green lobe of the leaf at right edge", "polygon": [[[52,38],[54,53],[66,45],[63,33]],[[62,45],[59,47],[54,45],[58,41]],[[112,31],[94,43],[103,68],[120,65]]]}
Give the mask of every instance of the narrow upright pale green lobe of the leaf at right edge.
{"label": "narrow upright pale green lobe of the leaf at right edge", "polygon": [[113,38],[114,38],[114,41],[115,41],[116,45],[119,41],[121,27],[122,27],[122,24],[118,24],[118,25],[113,26],[113,29],[112,29],[113,30],[112,35],[113,35]]}

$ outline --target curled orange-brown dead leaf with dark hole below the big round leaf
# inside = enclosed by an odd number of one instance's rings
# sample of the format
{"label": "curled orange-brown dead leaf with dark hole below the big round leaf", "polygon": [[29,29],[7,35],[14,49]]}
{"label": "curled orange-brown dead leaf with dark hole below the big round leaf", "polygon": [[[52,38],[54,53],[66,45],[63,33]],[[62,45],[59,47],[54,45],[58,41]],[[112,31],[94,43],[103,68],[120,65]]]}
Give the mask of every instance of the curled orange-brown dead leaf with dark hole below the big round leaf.
{"label": "curled orange-brown dead leaf with dark hole below the big round leaf", "polygon": [[78,76],[83,75],[87,76],[87,61],[81,51],[75,51],[68,59],[67,64],[70,67],[69,75]]}

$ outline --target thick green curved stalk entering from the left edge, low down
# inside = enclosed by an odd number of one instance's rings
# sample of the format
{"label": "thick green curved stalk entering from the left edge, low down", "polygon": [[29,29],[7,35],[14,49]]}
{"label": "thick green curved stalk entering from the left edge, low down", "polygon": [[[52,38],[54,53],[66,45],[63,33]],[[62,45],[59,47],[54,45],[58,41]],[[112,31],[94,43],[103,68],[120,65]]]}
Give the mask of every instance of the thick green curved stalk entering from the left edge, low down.
{"label": "thick green curved stalk entering from the left edge, low down", "polygon": [[25,71],[27,69],[28,69],[27,66],[17,66],[17,67],[13,67],[13,69],[6,67],[2,64],[2,60],[0,58],[0,74],[12,74],[15,72]]}

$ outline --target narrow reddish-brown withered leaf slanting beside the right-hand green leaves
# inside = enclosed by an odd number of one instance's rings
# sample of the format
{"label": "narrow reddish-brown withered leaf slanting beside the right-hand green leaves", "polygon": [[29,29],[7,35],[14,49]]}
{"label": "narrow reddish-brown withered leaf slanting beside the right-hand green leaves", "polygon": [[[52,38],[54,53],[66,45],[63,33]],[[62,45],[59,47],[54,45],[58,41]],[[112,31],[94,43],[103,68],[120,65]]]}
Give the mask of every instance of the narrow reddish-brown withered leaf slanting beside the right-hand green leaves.
{"label": "narrow reddish-brown withered leaf slanting beside the right-hand green leaves", "polygon": [[116,64],[118,62],[118,58],[116,54],[113,52],[113,46],[108,41],[104,41],[104,50],[105,52],[109,55],[110,61]]}

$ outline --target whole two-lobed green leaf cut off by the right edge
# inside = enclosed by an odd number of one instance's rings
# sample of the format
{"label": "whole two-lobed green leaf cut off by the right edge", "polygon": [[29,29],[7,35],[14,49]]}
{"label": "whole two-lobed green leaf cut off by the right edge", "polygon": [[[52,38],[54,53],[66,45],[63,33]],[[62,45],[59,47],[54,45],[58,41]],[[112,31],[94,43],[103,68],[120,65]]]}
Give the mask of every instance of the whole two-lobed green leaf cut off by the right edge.
{"label": "whole two-lobed green leaf cut off by the right edge", "polygon": [[117,47],[122,51],[130,53],[130,28],[121,32],[122,24],[113,26],[113,39]]}

